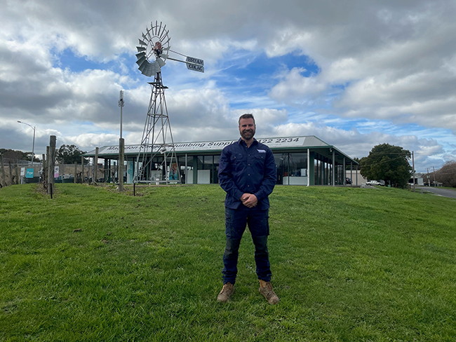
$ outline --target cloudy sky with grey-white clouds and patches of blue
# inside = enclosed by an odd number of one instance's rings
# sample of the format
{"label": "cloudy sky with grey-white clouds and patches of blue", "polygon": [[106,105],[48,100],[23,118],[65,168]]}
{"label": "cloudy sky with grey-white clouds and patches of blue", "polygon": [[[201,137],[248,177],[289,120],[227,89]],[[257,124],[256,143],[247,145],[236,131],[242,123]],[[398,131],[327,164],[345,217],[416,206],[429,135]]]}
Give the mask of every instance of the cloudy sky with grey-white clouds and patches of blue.
{"label": "cloudy sky with grey-white clouds and patches of blue", "polygon": [[[155,23],[205,73],[162,68],[175,142],[316,135],[351,157],[389,143],[415,168],[456,159],[456,1],[1,0],[0,148],[83,151],[142,137],[151,78],[138,38]],[[182,57],[170,54],[170,57]]]}

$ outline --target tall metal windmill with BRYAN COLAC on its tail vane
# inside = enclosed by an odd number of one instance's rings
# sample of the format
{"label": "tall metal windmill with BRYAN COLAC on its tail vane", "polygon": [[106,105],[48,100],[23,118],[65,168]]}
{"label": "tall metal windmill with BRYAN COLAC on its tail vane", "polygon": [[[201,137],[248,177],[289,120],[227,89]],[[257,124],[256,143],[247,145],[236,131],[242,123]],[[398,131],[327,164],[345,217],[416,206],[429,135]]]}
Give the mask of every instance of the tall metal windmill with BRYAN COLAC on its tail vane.
{"label": "tall metal windmill with BRYAN COLAC on its tail vane", "polygon": [[[170,36],[166,25],[156,21],[151,22],[150,28],[139,39],[138,69],[145,76],[154,76],[151,86],[149,108],[147,109],[146,122],[140,144],[140,151],[136,159],[135,183],[179,183],[180,167],[177,163],[173,134],[166,107],[165,89],[161,78],[161,67],[166,60],[174,60],[187,64],[187,69],[204,72],[204,61],[198,58],[182,55],[170,50]],[[186,57],[186,60],[177,60],[169,57],[175,53]]]}

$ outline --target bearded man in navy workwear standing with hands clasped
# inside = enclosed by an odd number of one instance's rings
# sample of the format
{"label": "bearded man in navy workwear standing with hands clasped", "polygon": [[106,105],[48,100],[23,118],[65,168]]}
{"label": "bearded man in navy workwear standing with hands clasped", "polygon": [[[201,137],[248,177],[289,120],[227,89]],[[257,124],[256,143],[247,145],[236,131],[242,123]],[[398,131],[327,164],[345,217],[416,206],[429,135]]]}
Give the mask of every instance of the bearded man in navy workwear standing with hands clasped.
{"label": "bearded man in navy workwear standing with hands clasped", "polygon": [[269,235],[268,196],[276,184],[276,163],[268,146],[253,138],[255,119],[252,114],[239,118],[241,138],[226,146],[220,156],[218,178],[227,192],[225,198],[225,233],[227,245],[223,254],[223,288],[217,301],[226,302],[234,293],[239,244],[246,225],[255,245],[255,264],[260,280],[260,293],[271,304],[279,303],[271,286],[271,269],[267,250]]}

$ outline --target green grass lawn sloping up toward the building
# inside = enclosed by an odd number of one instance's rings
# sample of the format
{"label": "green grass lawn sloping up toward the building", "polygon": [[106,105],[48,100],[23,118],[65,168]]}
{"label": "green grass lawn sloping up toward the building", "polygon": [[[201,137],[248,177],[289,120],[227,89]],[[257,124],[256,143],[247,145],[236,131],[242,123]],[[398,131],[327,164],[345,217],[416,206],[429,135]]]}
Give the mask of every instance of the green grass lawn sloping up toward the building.
{"label": "green grass lawn sloping up toward the building", "polygon": [[[241,243],[222,287],[224,192],[57,184],[0,189],[1,341],[455,341],[456,201],[405,190],[276,186],[281,302]],[[80,231],[75,231],[80,230]]]}

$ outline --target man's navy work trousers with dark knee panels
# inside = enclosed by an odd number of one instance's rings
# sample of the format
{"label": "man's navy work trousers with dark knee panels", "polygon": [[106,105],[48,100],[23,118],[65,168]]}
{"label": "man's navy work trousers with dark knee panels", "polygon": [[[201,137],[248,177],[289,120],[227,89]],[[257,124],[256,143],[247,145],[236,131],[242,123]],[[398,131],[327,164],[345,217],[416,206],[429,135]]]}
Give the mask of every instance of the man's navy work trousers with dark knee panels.
{"label": "man's navy work trousers with dark knee panels", "polygon": [[238,273],[238,256],[241,238],[246,226],[252,235],[255,245],[255,264],[258,279],[271,281],[271,266],[267,251],[267,236],[269,235],[269,210],[241,210],[225,207],[225,233],[227,247],[223,254],[223,283],[231,282],[234,285]]}

